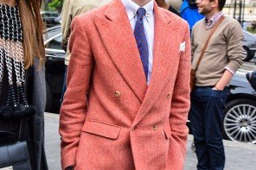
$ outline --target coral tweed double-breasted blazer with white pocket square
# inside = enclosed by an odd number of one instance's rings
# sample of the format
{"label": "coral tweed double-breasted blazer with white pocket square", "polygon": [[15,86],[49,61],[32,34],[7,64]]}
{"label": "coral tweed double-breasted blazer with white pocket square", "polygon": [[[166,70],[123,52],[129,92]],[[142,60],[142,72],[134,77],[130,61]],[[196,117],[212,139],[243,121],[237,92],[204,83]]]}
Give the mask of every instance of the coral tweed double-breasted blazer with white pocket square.
{"label": "coral tweed double-breasted blazer with white pocket square", "polygon": [[65,169],[183,168],[189,112],[189,26],[154,5],[153,70],[146,84],[120,0],[76,16],[61,106]]}

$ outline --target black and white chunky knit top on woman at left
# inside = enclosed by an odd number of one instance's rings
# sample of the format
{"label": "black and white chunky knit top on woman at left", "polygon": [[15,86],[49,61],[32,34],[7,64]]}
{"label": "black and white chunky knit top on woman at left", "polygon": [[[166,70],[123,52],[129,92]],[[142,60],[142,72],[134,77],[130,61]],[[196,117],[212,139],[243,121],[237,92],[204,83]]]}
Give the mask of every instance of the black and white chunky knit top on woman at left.
{"label": "black and white chunky knit top on woman at left", "polygon": [[29,111],[33,112],[25,94],[22,41],[18,5],[0,4],[0,119],[22,117]]}

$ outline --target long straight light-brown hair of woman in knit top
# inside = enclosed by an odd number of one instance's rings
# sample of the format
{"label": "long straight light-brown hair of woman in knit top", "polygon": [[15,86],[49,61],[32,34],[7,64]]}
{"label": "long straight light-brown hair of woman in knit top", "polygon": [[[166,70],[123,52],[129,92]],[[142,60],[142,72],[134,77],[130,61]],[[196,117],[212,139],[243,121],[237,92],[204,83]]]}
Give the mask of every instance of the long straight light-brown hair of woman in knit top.
{"label": "long straight light-brown hair of woman in knit top", "polygon": [[40,14],[42,0],[19,0],[17,3],[22,20],[25,68],[33,65],[35,57],[42,65],[45,61],[42,39],[44,24]]}

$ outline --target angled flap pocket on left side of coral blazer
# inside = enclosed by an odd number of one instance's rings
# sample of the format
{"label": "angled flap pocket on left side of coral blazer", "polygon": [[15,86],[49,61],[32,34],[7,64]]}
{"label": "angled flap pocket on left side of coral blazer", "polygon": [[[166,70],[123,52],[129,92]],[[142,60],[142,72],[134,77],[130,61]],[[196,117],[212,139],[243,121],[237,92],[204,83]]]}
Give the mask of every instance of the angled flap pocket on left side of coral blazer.
{"label": "angled flap pocket on left side of coral blazer", "polygon": [[109,139],[117,139],[120,133],[120,129],[120,127],[113,124],[90,120],[86,121],[82,128],[82,131],[89,134],[106,137]]}

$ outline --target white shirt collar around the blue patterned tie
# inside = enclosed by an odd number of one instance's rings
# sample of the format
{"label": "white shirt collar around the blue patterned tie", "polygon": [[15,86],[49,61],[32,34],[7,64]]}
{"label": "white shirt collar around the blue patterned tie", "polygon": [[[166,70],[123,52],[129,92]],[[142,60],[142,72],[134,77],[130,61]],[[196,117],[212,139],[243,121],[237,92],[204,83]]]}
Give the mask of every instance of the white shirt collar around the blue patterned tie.
{"label": "white shirt collar around the blue patterned tie", "polygon": [[[137,10],[140,6],[131,0],[122,0],[122,3],[125,6],[129,21],[131,21],[136,16]],[[150,2],[145,4],[143,8],[146,9],[146,17],[151,17],[153,15],[154,0],[150,0]]]}

